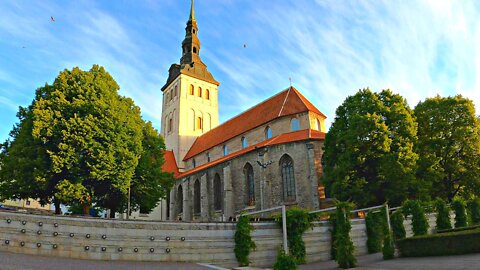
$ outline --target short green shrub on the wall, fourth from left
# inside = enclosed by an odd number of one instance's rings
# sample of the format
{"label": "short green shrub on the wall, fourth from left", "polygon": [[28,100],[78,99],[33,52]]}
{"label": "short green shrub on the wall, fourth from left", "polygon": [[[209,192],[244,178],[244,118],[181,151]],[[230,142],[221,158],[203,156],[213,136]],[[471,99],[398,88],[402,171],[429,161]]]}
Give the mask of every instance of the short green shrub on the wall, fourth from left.
{"label": "short green shrub on the wall, fourth from left", "polygon": [[369,211],[365,217],[367,227],[368,253],[377,253],[382,250],[383,231],[385,227],[385,215],[382,212]]}

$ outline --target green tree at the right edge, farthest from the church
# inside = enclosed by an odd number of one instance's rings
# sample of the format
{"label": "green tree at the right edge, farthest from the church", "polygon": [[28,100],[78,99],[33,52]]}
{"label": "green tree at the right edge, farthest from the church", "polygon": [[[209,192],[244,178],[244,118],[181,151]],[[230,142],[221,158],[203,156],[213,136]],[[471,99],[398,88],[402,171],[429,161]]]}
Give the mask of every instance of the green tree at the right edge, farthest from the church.
{"label": "green tree at the right edge, farthest from the church", "polygon": [[432,197],[452,201],[480,195],[480,121],[471,100],[434,97],[415,107],[418,177],[432,183]]}

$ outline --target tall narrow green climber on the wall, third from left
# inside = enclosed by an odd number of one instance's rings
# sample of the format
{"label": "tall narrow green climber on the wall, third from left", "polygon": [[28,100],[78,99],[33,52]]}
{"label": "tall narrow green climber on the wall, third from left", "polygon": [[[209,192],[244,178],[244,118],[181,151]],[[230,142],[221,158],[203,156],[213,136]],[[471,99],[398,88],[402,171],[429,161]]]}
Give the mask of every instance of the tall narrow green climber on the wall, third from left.
{"label": "tall narrow green climber on the wall, third from left", "polygon": [[335,234],[335,247],[337,254],[335,256],[338,266],[341,268],[355,267],[357,259],[353,255],[355,247],[353,246],[352,239],[350,238],[350,209],[351,204],[348,202],[337,202],[336,210],[336,234]]}

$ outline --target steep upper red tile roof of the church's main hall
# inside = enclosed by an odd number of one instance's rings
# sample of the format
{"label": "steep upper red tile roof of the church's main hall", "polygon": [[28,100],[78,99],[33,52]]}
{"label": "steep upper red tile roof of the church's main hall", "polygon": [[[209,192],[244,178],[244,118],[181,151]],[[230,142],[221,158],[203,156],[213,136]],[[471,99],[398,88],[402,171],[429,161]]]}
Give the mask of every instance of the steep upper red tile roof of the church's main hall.
{"label": "steep upper red tile roof of the church's main hall", "polygon": [[289,87],[198,137],[183,160],[192,158],[276,118],[307,111],[326,118],[295,87]]}

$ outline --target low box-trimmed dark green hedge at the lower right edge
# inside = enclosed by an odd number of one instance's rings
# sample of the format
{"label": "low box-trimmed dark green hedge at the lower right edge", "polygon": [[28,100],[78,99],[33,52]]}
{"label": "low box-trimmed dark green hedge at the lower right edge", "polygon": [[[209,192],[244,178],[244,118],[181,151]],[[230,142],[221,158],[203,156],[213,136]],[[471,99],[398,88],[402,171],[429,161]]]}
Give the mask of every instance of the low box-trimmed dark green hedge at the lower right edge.
{"label": "low box-trimmed dark green hedge at the lower right edge", "polygon": [[480,230],[431,234],[397,241],[403,257],[459,255],[480,252]]}

